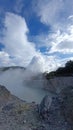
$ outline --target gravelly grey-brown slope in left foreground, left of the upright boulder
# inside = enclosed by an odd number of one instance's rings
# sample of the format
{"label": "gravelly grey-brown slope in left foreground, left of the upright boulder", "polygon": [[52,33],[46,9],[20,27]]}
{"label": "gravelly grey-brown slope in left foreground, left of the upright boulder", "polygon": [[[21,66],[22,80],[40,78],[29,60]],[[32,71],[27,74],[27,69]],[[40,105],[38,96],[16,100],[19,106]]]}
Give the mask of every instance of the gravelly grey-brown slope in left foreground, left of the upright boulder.
{"label": "gravelly grey-brown slope in left foreground, left of the upright boulder", "polygon": [[0,130],[34,130],[41,127],[35,103],[26,103],[0,85]]}

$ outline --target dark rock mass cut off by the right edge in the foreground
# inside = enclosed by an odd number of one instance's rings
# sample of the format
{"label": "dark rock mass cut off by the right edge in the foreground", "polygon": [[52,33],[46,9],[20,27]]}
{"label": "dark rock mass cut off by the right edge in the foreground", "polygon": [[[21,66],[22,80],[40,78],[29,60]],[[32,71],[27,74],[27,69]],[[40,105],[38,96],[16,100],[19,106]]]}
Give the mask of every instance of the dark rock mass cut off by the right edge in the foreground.
{"label": "dark rock mass cut off by the right edge in the foreground", "polygon": [[73,129],[73,86],[62,89],[60,97],[62,99],[61,112]]}

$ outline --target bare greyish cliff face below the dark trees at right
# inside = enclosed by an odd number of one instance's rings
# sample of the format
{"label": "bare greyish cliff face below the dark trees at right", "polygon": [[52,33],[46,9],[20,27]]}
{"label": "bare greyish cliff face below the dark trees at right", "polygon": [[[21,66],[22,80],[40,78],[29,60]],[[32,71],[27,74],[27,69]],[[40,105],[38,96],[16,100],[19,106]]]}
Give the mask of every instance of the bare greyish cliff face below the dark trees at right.
{"label": "bare greyish cliff face below the dark trees at right", "polygon": [[54,77],[45,80],[45,88],[51,93],[59,93],[63,88],[73,86],[73,77]]}

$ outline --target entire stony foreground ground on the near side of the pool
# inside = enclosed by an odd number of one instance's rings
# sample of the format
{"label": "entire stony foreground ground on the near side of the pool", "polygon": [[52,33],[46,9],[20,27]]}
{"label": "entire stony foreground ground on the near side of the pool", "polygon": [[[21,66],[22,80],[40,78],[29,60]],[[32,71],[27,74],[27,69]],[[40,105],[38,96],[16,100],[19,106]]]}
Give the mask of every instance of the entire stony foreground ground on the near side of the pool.
{"label": "entire stony foreground ground on the near side of the pool", "polygon": [[0,130],[73,130],[72,90],[62,91],[60,97],[46,96],[37,105],[18,99],[0,86]]}

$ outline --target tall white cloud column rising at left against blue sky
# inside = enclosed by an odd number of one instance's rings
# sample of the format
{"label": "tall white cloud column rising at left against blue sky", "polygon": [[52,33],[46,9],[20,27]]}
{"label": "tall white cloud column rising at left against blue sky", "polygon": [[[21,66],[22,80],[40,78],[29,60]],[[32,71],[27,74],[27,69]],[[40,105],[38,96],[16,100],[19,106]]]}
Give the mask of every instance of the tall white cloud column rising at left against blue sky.
{"label": "tall white cloud column rising at left against blue sky", "polygon": [[26,66],[37,52],[34,44],[27,39],[28,27],[25,19],[7,13],[4,26],[4,37],[1,39],[1,43],[5,46],[4,51],[13,57],[14,63]]}

